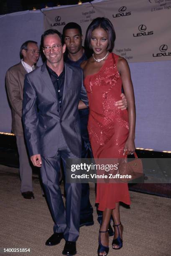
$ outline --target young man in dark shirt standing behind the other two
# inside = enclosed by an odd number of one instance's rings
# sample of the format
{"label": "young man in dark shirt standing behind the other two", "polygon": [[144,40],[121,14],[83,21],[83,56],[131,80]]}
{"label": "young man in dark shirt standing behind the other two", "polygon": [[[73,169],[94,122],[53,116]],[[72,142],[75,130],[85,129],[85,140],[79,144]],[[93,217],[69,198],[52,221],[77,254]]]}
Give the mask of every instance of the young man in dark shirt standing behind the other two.
{"label": "young man in dark shirt standing behind the other two", "polygon": [[[87,60],[84,48],[82,47],[82,30],[74,22],[66,24],[63,29],[64,42],[66,44],[66,54],[64,61],[74,67],[80,67],[82,61]],[[82,158],[93,158],[92,149],[89,143],[87,122],[89,108],[79,110],[81,133],[82,133]],[[89,201],[89,184],[82,183],[82,200],[80,212],[80,227],[83,225],[93,225],[93,208]]]}

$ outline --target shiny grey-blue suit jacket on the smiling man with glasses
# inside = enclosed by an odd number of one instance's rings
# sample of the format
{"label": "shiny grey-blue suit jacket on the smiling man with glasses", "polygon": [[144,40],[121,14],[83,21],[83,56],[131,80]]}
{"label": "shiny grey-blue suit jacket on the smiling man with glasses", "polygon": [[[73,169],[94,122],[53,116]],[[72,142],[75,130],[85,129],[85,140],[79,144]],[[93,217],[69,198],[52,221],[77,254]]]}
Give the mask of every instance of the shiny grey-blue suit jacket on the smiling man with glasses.
{"label": "shiny grey-blue suit jacket on the smiling man with glasses", "polygon": [[82,69],[65,64],[65,80],[60,111],[56,91],[46,63],[26,75],[23,97],[23,124],[30,156],[52,157],[58,151],[61,132],[71,152],[80,156],[81,131],[78,104],[88,105]]}

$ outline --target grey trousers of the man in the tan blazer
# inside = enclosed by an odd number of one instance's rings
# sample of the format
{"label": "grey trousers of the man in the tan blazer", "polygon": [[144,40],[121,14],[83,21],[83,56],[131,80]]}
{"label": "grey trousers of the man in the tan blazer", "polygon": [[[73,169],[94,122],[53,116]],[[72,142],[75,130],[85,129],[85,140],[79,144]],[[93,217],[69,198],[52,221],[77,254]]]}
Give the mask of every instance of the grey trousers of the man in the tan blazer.
{"label": "grey trousers of the man in the tan blazer", "polygon": [[20,179],[21,193],[27,191],[33,191],[32,185],[32,168],[29,160],[29,156],[27,154],[26,144],[23,136],[16,136],[17,139],[17,148],[19,154],[19,162],[20,162]]}

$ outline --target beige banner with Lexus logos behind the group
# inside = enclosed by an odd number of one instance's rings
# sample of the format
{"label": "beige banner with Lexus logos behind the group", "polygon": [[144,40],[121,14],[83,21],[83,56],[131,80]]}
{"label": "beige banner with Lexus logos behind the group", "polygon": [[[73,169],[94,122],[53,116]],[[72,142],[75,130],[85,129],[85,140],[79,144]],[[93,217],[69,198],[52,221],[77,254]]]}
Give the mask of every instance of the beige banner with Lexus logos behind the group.
{"label": "beige banner with Lexus logos behind the group", "polygon": [[116,54],[128,62],[171,60],[171,0],[93,1],[43,14],[45,29],[62,32],[68,22],[76,22],[84,36],[94,18],[107,17],[116,32]]}

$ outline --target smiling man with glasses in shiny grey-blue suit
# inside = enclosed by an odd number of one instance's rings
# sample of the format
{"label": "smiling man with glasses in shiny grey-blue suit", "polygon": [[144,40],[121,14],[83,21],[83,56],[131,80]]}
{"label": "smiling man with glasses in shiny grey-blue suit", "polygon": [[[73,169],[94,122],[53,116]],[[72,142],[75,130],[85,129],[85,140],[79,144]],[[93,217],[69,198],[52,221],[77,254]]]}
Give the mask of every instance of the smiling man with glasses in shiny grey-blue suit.
{"label": "smiling man with glasses in shiny grey-blue suit", "polygon": [[59,187],[60,161],[81,157],[78,104],[88,105],[82,69],[64,64],[66,49],[61,33],[49,29],[41,38],[46,62],[26,75],[23,123],[31,161],[41,167],[46,199],[54,220],[54,234],[47,246],[64,238],[64,255],[77,253],[81,184],[66,183],[66,210]]}

